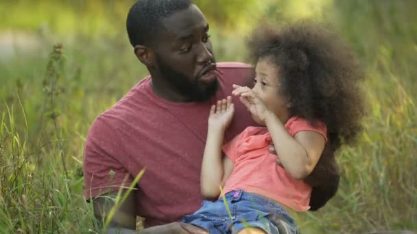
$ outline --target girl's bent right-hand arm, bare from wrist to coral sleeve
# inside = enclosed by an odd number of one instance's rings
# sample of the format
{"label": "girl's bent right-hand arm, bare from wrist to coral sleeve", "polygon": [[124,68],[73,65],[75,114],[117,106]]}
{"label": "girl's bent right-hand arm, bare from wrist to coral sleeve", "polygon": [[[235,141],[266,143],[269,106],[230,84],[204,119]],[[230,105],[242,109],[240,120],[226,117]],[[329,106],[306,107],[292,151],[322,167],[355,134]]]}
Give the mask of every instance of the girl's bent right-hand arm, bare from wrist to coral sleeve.
{"label": "girl's bent right-hand arm, bare from wrist to coral sleeve", "polygon": [[265,125],[285,170],[294,179],[305,179],[322,155],[326,144],[324,137],[314,131],[300,131],[292,138],[272,112],[265,115]]}

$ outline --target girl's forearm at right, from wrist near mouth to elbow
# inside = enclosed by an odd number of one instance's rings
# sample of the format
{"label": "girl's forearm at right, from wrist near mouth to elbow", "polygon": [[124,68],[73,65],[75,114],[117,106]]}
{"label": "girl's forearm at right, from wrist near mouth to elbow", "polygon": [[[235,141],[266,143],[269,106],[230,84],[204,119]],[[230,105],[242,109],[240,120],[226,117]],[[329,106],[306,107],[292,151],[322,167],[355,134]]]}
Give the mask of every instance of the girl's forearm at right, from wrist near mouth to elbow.
{"label": "girl's forearm at right, from wrist near mouth to elbow", "polygon": [[309,175],[309,157],[305,148],[289,135],[287,129],[274,113],[265,118],[265,124],[274,142],[276,153],[285,170],[294,179]]}

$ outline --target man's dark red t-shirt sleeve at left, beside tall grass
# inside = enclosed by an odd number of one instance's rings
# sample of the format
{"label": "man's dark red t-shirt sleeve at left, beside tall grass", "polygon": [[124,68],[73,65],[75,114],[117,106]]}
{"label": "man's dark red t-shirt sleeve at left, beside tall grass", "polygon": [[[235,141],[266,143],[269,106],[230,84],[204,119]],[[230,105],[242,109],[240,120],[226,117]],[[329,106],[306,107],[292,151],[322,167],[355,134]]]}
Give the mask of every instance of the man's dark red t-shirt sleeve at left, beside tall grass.
{"label": "man's dark red t-shirt sleeve at left, beside tall grass", "polygon": [[84,147],[84,196],[86,200],[128,187],[133,181],[117,160],[120,144],[115,131],[100,116],[88,131]]}

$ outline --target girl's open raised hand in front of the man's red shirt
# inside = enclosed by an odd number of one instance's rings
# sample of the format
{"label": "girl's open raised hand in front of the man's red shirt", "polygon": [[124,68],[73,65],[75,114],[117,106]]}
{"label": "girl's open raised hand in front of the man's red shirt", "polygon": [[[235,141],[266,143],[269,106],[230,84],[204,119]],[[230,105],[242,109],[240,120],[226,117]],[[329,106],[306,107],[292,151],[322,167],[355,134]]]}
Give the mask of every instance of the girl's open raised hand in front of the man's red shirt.
{"label": "girl's open raised hand in front of the man's red shirt", "polygon": [[208,116],[208,130],[225,131],[232,122],[235,114],[235,105],[232,103],[232,97],[217,101],[217,105],[212,105],[210,116]]}

